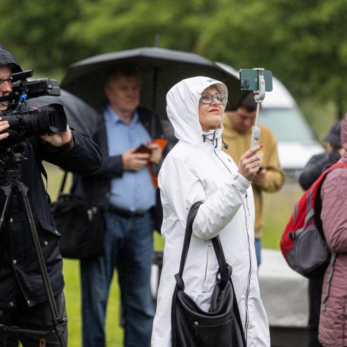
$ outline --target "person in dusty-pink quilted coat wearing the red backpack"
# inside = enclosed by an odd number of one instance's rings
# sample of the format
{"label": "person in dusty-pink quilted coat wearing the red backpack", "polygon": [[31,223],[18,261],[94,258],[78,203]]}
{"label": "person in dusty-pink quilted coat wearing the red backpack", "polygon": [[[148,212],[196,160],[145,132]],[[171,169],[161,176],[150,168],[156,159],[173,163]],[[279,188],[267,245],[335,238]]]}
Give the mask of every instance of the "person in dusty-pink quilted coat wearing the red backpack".
{"label": "person in dusty-pink quilted coat wearing the red backpack", "polygon": [[[341,124],[339,162],[347,164],[347,114]],[[323,278],[319,342],[347,346],[347,168],[332,170],[321,187],[321,221],[332,260]]]}

